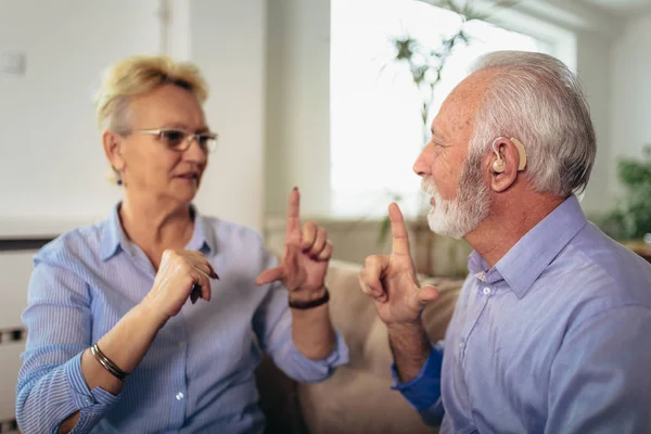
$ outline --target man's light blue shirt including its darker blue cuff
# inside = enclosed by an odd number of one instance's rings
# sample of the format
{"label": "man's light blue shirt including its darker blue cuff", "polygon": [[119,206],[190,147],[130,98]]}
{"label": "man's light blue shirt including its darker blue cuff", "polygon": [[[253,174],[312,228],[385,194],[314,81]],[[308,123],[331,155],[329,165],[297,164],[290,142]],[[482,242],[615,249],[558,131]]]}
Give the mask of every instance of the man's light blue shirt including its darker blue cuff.
{"label": "man's light blue shirt including its darker blue cuff", "polygon": [[[499,240],[495,240],[496,243]],[[441,433],[647,433],[651,265],[575,196],[492,269],[475,252],[445,343],[399,390]],[[445,348],[445,349],[444,349]]]}

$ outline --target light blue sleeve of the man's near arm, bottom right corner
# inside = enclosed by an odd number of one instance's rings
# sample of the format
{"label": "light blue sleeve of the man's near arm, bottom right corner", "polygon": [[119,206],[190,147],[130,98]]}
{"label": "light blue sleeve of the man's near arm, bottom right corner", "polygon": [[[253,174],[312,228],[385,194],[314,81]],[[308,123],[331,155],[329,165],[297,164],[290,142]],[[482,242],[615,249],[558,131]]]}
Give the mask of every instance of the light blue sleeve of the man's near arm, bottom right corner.
{"label": "light blue sleeve of the man's near arm, bottom right corner", "polygon": [[546,433],[651,432],[651,309],[624,306],[570,329],[551,368]]}

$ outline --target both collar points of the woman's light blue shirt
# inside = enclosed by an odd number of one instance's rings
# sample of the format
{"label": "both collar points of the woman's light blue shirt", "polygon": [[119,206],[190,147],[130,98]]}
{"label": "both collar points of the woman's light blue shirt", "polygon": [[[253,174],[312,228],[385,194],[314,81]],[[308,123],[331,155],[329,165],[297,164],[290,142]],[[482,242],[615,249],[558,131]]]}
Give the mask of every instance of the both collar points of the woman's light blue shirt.
{"label": "both collar points of the woman's light blue shirt", "polygon": [[[100,254],[102,260],[107,260],[115,256],[120,250],[128,248],[129,239],[127,238],[119,221],[119,207],[122,202],[113,207],[111,215],[104,222],[104,231],[100,244]],[[194,216],[194,232],[187,250],[200,251],[203,254],[215,252],[215,240],[210,226],[206,219],[201,216],[194,205],[190,205],[190,213]]]}

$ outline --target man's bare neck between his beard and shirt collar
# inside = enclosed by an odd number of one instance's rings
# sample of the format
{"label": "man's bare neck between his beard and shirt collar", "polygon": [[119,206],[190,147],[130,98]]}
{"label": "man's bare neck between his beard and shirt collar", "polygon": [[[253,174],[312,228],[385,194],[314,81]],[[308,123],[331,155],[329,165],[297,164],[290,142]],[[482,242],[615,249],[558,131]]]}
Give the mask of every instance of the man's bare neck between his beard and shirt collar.
{"label": "man's bare neck between his beard and shirt collar", "polygon": [[[528,192],[526,197],[496,200],[490,214],[465,241],[493,268],[528,231],[554,210],[564,199]],[[524,207],[522,204],[531,204]]]}

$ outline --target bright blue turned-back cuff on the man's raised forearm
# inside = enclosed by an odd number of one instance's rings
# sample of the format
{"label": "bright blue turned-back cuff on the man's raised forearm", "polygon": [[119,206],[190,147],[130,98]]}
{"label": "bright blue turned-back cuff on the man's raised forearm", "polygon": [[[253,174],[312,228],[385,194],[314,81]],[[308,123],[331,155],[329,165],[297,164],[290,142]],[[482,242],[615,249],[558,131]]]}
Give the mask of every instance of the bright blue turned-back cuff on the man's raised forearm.
{"label": "bright blue turned-back cuff on the man's raised forearm", "polygon": [[439,425],[445,413],[441,399],[441,369],[443,367],[443,342],[432,344],[425,365],[412,380],[400,383],[395,362],[391,367],[392,387],[400,392],[427,425]]}

